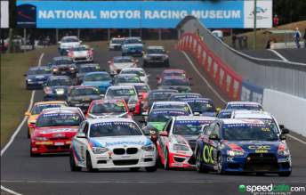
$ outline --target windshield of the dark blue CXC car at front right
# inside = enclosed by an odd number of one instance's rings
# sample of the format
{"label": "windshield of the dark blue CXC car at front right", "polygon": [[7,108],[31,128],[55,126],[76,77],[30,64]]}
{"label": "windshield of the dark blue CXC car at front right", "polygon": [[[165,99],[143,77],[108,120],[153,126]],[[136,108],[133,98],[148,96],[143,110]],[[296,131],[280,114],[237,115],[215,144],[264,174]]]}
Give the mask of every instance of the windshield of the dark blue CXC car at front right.
{"label": "windshield of the dark blue CXC car at front right", "polygon": [[267,124],[226,124],[223,126],[223,129],[225,140],[278,140],[278,135]]}

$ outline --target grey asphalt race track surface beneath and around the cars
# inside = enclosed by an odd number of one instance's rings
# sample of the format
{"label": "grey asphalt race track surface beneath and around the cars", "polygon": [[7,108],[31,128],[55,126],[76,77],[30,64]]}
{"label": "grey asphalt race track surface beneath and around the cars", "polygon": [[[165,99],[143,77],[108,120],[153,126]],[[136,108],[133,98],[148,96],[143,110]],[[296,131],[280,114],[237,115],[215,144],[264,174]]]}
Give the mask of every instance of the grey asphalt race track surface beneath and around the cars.
{"label": "grey asphalt race track surface beneath and around the cars", "polygon": [[[191,53],[186,52],[200,74],[205,77],[213,89],[226,102],[230,99],[214,85]],[[120,52],[94,53],[94,63],[109,71],[110,61]],[[52,61],[57,53],[44,53],[42,66]],[[190,65],[182,52],[171,52],[169,69],[185,69],[194,86],[192,91],[211,98],[217,108],[223,109],[225,102],[213,93],[197,71]],[[138,67],[142,67],[141,57],[136,57]],[[150,75],[151,89],[157,88],[157,80],[164,69],[146,68]],[[20,75],[20,77],[22,77]],[[43,92],[36,91],[34,102],[43,101]],[[135,117],[138,122],[139,116]],[[19,119],[19,118],[18,118]],[[290,132],[294,137],[306,142],[306,138]],[[278,175],[218,175],[217,173],[197,174],[195,168],[166,171],[158,168],[155,173],[147,173],[144,168],[139,172],[129,169],[101,169],[98,173],[71,172],[67,154],[45,154],[38,158],[29,157],[30,140],[27,138],[26,124],[21,127],[12,145],[4,152],[1,159],[1,185],[20,194],[248,194],[238,191],[238,186],[245,185],[282,185],[290,187],[306,186],[306,144],[287,136],[287,144],[292,152],[293,173],[289,177]],[[1,194],[7,194],[2,191]],[[292,194],[305,194],[293,192]]]}

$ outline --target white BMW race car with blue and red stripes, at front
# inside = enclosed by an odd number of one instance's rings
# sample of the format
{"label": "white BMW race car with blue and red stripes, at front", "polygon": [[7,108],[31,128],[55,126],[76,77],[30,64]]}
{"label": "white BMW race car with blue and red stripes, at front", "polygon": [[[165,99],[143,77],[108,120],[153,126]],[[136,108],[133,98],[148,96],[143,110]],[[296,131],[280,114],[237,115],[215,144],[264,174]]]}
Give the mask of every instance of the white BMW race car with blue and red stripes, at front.
{"label": "white BMW race car with blue and red stripes, at front", "polygon": [[85,120],[70,146],[70,169],[88,172],[99,168],[157,171],[157,149],[137,124],[127,118]]}

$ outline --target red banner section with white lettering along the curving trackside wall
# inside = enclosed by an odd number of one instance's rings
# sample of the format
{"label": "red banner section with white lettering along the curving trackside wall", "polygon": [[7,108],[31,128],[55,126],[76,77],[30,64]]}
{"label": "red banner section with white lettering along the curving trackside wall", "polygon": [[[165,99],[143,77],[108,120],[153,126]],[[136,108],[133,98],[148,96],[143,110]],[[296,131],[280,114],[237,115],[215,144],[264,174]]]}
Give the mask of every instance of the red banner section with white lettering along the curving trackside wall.
{"label": "red banner section with white lettering along the curving trackside wall", "polygon": [[175,50],[193,53],[202,68],[212,77],[215,84],[233,101],[240,100],[240,86],[242,77],[223,64],[201,41],[192,33],[186,33],[175,44]]}

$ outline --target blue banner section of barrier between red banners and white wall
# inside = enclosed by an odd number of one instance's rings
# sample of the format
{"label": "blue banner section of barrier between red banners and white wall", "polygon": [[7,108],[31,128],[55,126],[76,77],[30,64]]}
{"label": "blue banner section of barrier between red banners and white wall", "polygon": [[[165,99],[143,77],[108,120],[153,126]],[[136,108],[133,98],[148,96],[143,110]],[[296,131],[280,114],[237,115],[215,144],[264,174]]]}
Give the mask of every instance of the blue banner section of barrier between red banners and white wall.
{"label": "blue banner section of barrier between red banners and white wall", "polygon": [[242,102],[259,102],[262,104],[264,88],[253,85],[246,80],[241,81],[240,101]]}

